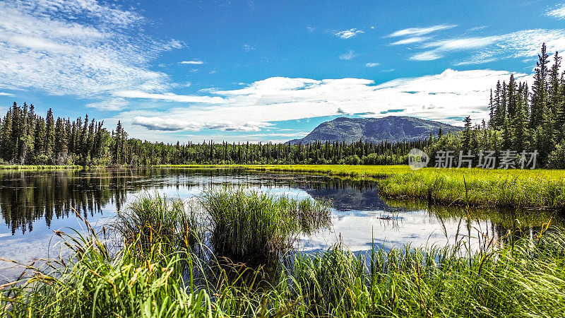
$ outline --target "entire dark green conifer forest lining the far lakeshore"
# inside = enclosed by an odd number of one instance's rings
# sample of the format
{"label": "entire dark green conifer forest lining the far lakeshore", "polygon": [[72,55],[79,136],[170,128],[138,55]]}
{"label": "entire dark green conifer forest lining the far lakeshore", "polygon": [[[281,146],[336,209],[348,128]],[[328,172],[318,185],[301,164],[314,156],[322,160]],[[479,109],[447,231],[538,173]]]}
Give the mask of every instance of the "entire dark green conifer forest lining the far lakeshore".
{"label": "entire dark green conifer forest lining the far lakeshore", "polygon": [[[349,164],[398,165],[408,162],[408,151],[537,151],[537,167],[565,168],[565,72],[558,52],[549,57],[542,45],[531,86],[497,82],[491,90],[488,122],[472,124],[458,134],[434,131],[429,139],[400,143],[317,141],[290,143],[153,143],[128,138],[118,122],[108,131],[103,122],[78,117],[45,117],[34,105],[16,102],[0,122],[0,163],[11,165],[180,165],[180,164]],[[477,164],[478,158],[473,159]],[[458,163],[455,155],[454,163]]]}

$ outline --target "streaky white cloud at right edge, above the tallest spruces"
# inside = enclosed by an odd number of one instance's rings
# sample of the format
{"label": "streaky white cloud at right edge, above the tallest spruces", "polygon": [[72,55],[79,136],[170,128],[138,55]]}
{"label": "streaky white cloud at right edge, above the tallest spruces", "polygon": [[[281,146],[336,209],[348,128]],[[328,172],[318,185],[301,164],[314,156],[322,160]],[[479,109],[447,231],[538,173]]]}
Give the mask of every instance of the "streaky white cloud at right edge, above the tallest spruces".
{"label": "streaky white cloud at right edge, above the tallest spruces", "polygon": [[565,49],[565,30],[522,30],[489,37],[456,37],[424,44],[428,51],[410,59],[430,61],[441,59],[450,52],[472,51],[474,55],[456,65],[481,64],[508,57],[535,57],[545,42],[549,51]]}

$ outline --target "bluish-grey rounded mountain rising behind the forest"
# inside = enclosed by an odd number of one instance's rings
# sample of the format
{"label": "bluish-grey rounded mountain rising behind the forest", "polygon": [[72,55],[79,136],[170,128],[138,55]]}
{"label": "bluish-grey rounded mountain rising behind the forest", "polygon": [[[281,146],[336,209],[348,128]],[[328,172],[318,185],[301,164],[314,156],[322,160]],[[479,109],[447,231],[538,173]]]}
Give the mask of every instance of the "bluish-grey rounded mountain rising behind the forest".
{"label": "bluish-grey rounded mountain rising behind the forest", "polygon": [[432,120],[404,116],[388,116],[383,118],[347,118],[339,117],[323,122],[303,139],[289,141],[311,143],[314,141],[414,141],[429,138],[430,131],[437,135],[439,128],[446,134],[448,131],[460,131],[463,127],[451,126]]}

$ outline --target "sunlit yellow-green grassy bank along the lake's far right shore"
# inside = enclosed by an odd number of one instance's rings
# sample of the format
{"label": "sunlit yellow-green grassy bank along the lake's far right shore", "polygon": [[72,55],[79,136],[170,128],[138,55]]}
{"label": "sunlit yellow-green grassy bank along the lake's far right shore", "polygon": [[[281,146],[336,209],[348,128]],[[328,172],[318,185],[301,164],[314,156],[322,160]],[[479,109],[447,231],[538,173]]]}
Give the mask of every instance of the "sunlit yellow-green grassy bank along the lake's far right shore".
{"label": "sunlit yellow-green grassy bank along the lake's far right shore", "polygon": [[[176,165],[228,167],[261,171],[305,172],[376,179],[383,196],[427,199],[437,204],[509,208],[565,208],[565,170],[484,170],[424,168],[405,165]],[[465,192],[465,183],[467,192]]]}

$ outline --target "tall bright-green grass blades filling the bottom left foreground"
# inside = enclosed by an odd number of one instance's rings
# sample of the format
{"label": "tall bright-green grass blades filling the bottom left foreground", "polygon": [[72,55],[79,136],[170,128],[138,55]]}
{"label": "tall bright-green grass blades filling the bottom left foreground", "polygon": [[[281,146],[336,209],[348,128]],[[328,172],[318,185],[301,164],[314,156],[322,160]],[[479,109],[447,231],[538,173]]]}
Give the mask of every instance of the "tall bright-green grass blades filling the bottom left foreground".
{"label": "tall bright-green grass blades filling the bottom left foreground", "polygon": [[184,283],[191,254],[153,242],[140,257],[136,240],[133,245],[126,240],[114,254],[90,226],[86,234],[57,233],[69,257],[26,266],[30,278],[0,286],[7,287],[1,290],[2,317],[203,317],[214,312],[206,291]]}

